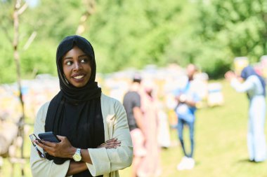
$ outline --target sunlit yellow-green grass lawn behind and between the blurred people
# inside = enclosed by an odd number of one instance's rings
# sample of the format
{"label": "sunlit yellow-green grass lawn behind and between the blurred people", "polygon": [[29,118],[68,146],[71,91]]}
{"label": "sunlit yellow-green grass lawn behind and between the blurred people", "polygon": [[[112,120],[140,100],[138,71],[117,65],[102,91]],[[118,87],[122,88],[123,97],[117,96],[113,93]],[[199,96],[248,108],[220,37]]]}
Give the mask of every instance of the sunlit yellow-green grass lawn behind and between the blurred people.
{"label": "sunlit yellow-green grass lawn behind and between the blurred people", "polygon": [[[195,161],[190,171],[177,171],[176,165],[183,154],[178,144],[177,133],[171,129],[171,141],[176,146],[162,150],[162,177],[263,177],[267,176],[267,162],[259,164],[248,161],[247,152],[247,108],[245,94],[238,94],[228,83],[223,84],[223,106],[201,108],[197,111],[195,125]],[[188,137],[185,135],[185,137]],[[27,139],[27,137],[26,137]],[[186,142],[188,144],[188,141]],[[30,142],[26,142],[26,156]],[[28,162],[28,160],[27,160]],[[15,165],[15,176],[20,176],[20,166]],[[131,167],[120,171],[120,176],[128,177]],[[2,176],[10,176],[11,166],[4,161]],[[1,176],[1,175],[0,175]],[[25,164],[25,176],[31,176],[29,164]]]}

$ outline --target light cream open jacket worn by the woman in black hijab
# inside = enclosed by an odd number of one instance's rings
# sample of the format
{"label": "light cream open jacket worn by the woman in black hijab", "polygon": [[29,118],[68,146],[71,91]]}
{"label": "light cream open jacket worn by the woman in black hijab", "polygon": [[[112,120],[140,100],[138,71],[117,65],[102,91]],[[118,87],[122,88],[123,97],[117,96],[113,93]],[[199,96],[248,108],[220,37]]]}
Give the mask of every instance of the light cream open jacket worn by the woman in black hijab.
{"label": "light cream open jacket worn by the woman in black hijab", "polygon": [[[44,132],[44,124],[49,102],[41,106],[34,123],[34,134]],[[92,176],[119,176],[119,169],[129,167],[133,158],[133,146],[129,132],[126,112],[122,104],[116,99],[101,95],[101,109],[104,122],[105,141],[117,138],[121,146],[112,149],[89,148],[93,164],[87,164]],[[42,150],[41,150],[42,152]],[[52,160],[41,159],[34,147],[31,147],[30,165],[32,176],[63,177],[67,174],[70,160],[63,164],[55,164]]]}

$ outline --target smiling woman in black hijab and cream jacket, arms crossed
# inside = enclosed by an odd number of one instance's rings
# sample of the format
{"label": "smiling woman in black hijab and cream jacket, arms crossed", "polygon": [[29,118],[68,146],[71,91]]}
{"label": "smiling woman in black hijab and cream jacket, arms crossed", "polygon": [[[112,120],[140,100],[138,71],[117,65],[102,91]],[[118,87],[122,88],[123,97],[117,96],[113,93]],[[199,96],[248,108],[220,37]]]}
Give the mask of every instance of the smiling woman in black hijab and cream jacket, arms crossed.
{"label": "smiling woman in black hijab and cream jacket, arms crossed", "polygon": [[34,141],[33,176],[119,176],[131,165],[132,143],[124,107],[98,87],[91,43],[67,36],[56,53],[60,92],[41,106],[34,134],[53,132],[60,143]]}

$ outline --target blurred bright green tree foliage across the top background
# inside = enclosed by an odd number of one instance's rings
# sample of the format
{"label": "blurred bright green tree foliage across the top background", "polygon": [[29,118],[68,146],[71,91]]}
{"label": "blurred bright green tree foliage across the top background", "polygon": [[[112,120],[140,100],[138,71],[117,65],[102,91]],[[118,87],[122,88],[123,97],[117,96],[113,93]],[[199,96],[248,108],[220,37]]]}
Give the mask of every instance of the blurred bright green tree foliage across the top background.
{"label": "blurred bright green tree foliage across the top background", "polygon": [[[86,0],[31,1],[20,17],[23,78],[56,74],[57,45],[75,33],[86,10]],[[219,77],[234,57],[257,62],[267,53],[266,0],[97,0],[93,8],[82,36],[94,47],[98,72],[193,62]],[[15,80],[12,13],[13,1],[0,0],[0,83]]]}

